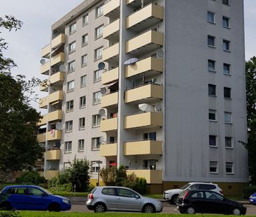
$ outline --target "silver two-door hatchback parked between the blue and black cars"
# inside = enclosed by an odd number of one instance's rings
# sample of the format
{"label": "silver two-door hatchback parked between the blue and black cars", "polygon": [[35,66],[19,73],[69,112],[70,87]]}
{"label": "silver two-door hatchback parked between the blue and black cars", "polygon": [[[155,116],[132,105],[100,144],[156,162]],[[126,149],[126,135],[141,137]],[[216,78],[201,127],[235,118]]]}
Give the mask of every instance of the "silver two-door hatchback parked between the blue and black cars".
{"label": "silver two-door hatchback parked between the blue and black cars", "polygon": [[88,195],[86,206],[94,212],[140,211],[143,213],[161,212],[162,202],[143,197],[130,188],[118,186],[96,187]]}

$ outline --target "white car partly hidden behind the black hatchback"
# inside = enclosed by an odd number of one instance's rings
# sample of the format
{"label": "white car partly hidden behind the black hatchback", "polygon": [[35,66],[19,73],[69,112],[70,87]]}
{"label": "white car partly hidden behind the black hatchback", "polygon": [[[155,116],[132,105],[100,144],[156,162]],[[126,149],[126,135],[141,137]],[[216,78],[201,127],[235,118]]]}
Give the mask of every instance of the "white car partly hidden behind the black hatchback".
{"label": "white car partly hidden behind the black hatchback", "polygon": [[223,190],[218,186],[218,184],[206,183],[206,182],[190,182],[185,186],[177,189],[165,190],[163,193],[164,200],[175,204],[175,201],[180,193],[186,189],[204,189],[204,190],[213,190],[217,193],[223,194]]}

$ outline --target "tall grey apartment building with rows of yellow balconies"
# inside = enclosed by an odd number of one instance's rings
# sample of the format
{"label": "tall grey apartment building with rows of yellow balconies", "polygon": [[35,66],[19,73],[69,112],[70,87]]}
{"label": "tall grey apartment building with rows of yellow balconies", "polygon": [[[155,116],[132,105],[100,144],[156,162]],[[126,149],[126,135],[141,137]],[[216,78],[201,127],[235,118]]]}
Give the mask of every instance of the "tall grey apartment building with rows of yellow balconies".
{"label": "tall grey apartment building with rows of yellow balconies", "polygon": [[[243,1],[87,0],[52,25],[44,175],[125,165],[151,192],[248,181]],[[47,77],[48,76],[48,77]]]}

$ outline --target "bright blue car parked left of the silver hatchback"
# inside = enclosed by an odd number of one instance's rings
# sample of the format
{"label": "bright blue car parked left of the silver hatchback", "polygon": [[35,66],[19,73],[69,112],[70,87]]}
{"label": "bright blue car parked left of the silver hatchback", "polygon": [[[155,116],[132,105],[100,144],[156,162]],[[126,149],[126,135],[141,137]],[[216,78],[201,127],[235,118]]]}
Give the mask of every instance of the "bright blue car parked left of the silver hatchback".
{"label": "bright blue car parked left of the silver hatchback", "polygon": [[71,202],[39,186],[6,186],[0,193],[0,208],[66,211],[71,209]]}

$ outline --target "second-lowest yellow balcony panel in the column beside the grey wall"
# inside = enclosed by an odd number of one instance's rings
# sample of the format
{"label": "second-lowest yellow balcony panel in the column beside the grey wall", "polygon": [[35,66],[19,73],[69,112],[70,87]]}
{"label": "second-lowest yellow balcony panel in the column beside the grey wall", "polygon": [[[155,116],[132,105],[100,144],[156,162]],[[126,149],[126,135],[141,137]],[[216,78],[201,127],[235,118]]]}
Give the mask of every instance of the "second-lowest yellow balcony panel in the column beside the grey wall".
{"label": "second-lowest yellow balcony panel in the column beside the grey wall", "polygon": [[142,140],[124,143],[124,156],[143,154],[163,154],[162,141]]}

